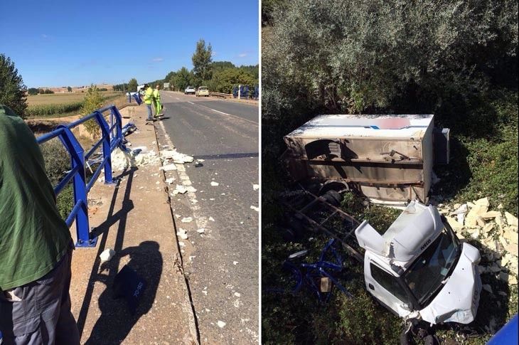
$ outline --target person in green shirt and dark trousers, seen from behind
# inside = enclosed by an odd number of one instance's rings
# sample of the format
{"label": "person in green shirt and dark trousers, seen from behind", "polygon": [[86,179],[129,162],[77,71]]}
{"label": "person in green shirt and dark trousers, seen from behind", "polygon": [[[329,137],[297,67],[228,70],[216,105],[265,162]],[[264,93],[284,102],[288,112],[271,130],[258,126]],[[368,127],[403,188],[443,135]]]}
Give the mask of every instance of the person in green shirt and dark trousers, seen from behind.
{"label": "person in green shirt and dark trousers, seen from behind", "polygon": [[79,344],[70,230],[36,137],[0,105],[0,331],[4,344]]}

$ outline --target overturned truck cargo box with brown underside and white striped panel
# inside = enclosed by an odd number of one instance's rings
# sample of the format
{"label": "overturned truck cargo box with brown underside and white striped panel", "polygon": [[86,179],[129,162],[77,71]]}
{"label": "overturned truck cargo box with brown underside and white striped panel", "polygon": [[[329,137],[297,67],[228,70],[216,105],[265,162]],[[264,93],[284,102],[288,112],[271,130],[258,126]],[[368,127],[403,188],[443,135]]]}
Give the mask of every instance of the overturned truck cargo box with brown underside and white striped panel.
{"label": "overturned truck cargo box with brown underside and white striped panel", "polygon": [[[284,137],[283,159],[296,181],[342,181],[375,203],[426,203],[434,163],[433,119],[319,115]],[[448,160],[448,154],[442,159]]]}

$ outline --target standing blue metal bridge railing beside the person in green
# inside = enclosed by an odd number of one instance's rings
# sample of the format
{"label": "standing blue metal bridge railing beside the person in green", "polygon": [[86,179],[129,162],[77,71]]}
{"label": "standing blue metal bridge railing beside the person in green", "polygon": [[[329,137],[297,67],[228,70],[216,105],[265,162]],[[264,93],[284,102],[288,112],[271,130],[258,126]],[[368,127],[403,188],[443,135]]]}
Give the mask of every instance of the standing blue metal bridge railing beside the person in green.
{"label": "standing blue metal bridge railing beside the person in green", "polygon": [[[110,112],[110,124],[105,119],[103,112]],[[72,130],[79,124],[87,122],[88,120],[95,120],[100,127],[101,139],[93,145],[92,149],[85,154],[85,150],[81,147],[80,142],[73,134]],[[112,161],[111,154],[116,147],[123,147],[123,127],[122,117],[117,110],[117,107],[110,105],[100,110],[92,112],[92,114],[82,117],[68,125],[60,125],[53,132],[44,134],[38,137],[38,144],[48,142],[50,139],[58,137],[63,143],[63,146],[70,155],[71,167],[66,176],[54,187],[56,196],[63,191],[70,181],[73,181],[74,207],[65,223],[70,227],[75,221],[77,231],[76,247],[95,247],[97,237],[93,237],[90,233],[90,226],[88,222],[88,201],[87,194],[95,184],[97,177],[101,171],[105,171],[105,184],[113,184],[112,176]],[[85,174],[85,166],[87,162],[95,154],[96,150],[102,146],[102,156],[99,159],[100,166],[93,171],[92,178],[87,182]]]}

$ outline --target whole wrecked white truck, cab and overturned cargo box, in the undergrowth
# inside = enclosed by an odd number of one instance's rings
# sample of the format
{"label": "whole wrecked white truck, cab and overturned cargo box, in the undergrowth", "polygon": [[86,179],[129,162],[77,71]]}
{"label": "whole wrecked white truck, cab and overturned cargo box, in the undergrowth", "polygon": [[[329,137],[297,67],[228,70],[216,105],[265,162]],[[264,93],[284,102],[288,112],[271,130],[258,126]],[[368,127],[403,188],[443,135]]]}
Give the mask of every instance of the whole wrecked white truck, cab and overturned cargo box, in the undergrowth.
{"label": "whole wrecked white truck, cab and overturned cargo box, in the undergrowth", "polygon": [[[363,221],[350,233],[333,237],[363,262],[366,289],[387,309],[430,324],[468,324],[478,309],[481,257],[472,245],[460,242],[437,208],[426,206],[433,164],[449,163],[449,129],[434,129],[433,119],[320,115],[284,137],[282,159],[294,181],[319,181],[321,196],[315,200],[343,218],[350,216],[336,207],[338,200],[335,206],[329,202],[345,189],[374,203],[404,208],[382,234]],[[311,205],[290,208],[309,219]],[[334,233],[324,223],[309,223]],[[343,240],[351,239],[353,231],[364,255]]]}

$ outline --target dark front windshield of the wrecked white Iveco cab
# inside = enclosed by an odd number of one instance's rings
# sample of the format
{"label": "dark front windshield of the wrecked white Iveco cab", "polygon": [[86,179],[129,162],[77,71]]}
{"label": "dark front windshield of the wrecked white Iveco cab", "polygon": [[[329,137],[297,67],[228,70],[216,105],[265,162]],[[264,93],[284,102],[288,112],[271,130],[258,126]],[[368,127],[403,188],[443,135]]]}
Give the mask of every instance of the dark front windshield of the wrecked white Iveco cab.
{"label": "dark front windshield of the wrecked white Iveco cab", "polygon": [[444,228],[438,238],[405,272],[405,282],[419,304],[424,304],[443,286],[451,268],[454,268],[459,253],[461,251],[458,238],[452,230]]}

